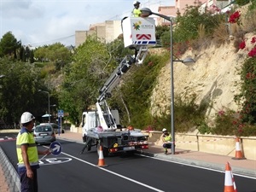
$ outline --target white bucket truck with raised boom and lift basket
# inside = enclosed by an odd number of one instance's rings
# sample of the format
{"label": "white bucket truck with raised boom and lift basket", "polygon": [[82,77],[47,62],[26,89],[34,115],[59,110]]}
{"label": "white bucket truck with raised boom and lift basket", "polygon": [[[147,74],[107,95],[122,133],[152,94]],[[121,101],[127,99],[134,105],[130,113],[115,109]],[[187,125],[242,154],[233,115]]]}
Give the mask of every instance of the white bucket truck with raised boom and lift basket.
{"label": "white bucket truck with raised boom and lift basket", "polygon": [[135,152],[148,148],[148,137],[139,129],[127,130],[119,125],[119,113],[110,110],[107,99],[113,88],[119,84],[121,76],[133,64],[140,65],[148,54],[148,46],[154,46],[155,26],[152,18],[129,18],[122,20],[125,47],[135,50],[135,55],[127,55],[113,71],[109,79],[99,91],[96,110],[83,113],[82,131],[84,148],[90,151],[92,146],[102,145],[103,155],[119,152]]}

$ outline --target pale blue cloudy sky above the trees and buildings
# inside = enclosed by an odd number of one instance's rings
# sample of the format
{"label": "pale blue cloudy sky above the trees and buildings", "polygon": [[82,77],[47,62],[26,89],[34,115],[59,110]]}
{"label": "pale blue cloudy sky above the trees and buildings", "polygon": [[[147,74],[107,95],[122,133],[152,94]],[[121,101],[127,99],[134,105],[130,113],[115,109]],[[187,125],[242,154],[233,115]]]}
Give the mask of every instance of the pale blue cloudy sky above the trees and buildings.
{"label": "pale blue cloudy sky above the trees and buildings", "polygon": [[[174,0],[142,0],[140,8],[157,12]],[[75,45],[75,31],[131,16],[133,0],[0,0],[0,38],[12,32],[23,45],[60,42]]]}

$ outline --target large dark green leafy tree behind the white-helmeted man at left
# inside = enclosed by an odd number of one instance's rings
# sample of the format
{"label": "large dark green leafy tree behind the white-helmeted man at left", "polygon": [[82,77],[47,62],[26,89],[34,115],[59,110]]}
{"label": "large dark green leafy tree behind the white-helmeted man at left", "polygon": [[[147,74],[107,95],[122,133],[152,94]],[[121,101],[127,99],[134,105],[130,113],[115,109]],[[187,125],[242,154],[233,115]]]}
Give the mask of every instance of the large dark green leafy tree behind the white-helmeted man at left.
{"label": "large dark green leafy tree behind the white-helmeted man at left", "polygon": [[20,114],[40,113],[43,97],[37,94],[44,87],[38,69],[29,63],[0,58],[0,119],[7,124],[19,123]]}

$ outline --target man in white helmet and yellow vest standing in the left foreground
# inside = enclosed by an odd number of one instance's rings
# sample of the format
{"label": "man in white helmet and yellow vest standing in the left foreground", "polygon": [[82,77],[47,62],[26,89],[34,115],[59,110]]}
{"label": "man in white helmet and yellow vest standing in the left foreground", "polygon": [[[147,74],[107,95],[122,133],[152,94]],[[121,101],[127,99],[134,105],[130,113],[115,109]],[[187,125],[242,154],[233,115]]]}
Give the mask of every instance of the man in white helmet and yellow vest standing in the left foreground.
{"label": "man in white helmet and yellow vest standing in the left foreground", "polygon": [[49,149],[38,151],[32,133],[34,119],[35,117],[29,112],[21,115],[20,124],[22,127],[16,140],[21,192],[38,192],[38,154],[50,154]]}

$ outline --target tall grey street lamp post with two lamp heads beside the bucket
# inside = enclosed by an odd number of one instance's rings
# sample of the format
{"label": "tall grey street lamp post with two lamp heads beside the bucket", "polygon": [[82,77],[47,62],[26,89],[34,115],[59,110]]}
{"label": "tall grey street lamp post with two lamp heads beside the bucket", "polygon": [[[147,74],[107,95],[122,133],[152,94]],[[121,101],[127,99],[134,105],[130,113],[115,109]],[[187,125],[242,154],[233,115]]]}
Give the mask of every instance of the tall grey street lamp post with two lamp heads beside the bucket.
{"label": "tall grey street lamp post with two lamp heads beside the bucket", "polygon": [[169,20],[171,22],[170,25],[170,32],[171,32],[171,40],[170,40],[170,47],[171,47],[171,134],[172,134],[172,154],[175,154],[175,126],[174,126],[174,84],[173,84],[173,61],[179,61],[183,62],[184,64],[194,63],[195,61],[191,58],[186,58],[184,60],[173,60],[173,44],[172,44],[172,24],[173,20],[171,17],[168,17],[166,15],[161,15],[158,13],[152,12],[148,8],[140,9],[142,14],[142,17],[148,17],[149,15],[157,15],[161,18],[164,18],[166,20]]}

